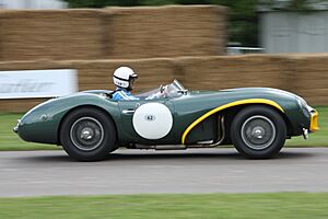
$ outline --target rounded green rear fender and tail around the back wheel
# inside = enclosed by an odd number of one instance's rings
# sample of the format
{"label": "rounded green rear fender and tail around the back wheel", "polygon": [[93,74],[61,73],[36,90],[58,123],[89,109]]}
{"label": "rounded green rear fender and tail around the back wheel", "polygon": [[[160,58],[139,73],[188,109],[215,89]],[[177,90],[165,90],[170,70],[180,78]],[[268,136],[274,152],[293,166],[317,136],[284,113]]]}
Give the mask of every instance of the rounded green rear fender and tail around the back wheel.
{"label": "rounded green rear fender and tail around the back wheel", "polygon": [[25,141],[40,143],[58,142],[58,132],[62,118],[70,111],[81,106],[95,106],[106,111],[118,123],[117,102],[102,95],[78,93],[71,96],[46,101],[27,112],[17,124],[16,132]]}

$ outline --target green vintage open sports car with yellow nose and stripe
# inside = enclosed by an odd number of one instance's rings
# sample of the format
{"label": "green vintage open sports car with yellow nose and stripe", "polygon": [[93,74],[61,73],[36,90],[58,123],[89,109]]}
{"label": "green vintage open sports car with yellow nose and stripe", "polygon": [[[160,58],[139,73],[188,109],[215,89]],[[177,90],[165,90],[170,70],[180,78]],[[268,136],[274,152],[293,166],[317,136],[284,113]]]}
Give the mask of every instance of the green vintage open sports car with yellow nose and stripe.
{"label": "green vintage open sports car with yellow nose and stripe", "polygon": [[[233,143],[245,157],[274,157],[286,138],[318,129],[318,113],[300,96],[268,88],[188,91],[177,80],[113,101],[115,91],[56,97],[14,127],[24,140],[62,146],[79,161],[105,159],[119,147],[187,149]],[[155,93],[161,97],[149,100]]]}

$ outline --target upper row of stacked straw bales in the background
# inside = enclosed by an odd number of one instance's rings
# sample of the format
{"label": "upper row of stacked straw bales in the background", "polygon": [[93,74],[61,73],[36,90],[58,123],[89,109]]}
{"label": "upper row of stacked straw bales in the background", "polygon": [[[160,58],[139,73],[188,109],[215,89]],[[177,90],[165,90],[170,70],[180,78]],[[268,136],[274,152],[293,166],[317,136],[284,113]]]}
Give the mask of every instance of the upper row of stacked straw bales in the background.
{"label": "upper row of stacked straw bales in the background", "polygon": [[0,10],[0,60],[224,54],[223,7]]}

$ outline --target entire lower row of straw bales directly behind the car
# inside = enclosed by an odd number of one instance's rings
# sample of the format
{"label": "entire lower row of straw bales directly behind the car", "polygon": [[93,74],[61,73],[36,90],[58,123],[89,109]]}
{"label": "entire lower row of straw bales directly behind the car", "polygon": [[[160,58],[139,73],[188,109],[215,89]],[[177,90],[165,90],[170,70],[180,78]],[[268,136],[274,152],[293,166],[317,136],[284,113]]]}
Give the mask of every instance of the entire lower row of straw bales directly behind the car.
{"label": "entire lower row of straw bales directly behind the car", "polygon": [[[112,76],[119,66],[129,66],[138,72],[134,92],[147,91],[178,79],[190,90],[270,87],[302,95],[312,105],[328,105],[328,55],[11,61],[0,62],[0,71],[72,68],[79,71],[80,91],[113,90],[115,87]],[[0,112],[26,112],[44,100],[0,100]]]}

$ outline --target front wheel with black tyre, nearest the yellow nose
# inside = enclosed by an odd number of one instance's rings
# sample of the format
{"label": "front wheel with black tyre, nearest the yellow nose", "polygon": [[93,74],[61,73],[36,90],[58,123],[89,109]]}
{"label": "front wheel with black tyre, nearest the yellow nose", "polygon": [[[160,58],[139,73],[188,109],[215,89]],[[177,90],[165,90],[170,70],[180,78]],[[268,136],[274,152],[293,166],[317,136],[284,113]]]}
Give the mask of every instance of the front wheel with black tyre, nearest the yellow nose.
{"label": "front wheel with black tyre, nearest the yellow nose", "polygon": [[286,125],[279,113],[268,106],[247,106],[234,117],[231,139],[243,155],[268,159],[277,155],[286,138]]}

